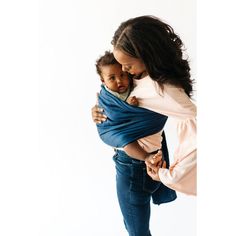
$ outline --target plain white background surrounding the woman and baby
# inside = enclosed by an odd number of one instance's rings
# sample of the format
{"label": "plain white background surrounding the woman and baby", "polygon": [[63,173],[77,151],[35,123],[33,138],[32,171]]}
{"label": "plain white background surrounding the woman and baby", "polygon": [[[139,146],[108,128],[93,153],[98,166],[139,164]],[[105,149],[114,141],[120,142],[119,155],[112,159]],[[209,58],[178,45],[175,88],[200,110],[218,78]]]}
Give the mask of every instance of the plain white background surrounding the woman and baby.
{"label": "plain white background surrounding the woman and baby", "polygon": [[[204,1],[200,9],[209,20],[211,5],[206,6]],[[195,1],[1,2],[0,235],[126,235],[115,193],[113,152],[99,140],[90,109],[100,85],[95,60],[111,49],[112,35],[122,21],[144,14],[156,15],[173,26],[185,43],[196,79]],[[232,14],[227,14],[229,21]],[[218,27],[228,35],[231,29],[227,25],[210,20],[201,35],[208,35],[210,30],[219,32]],[[201,33],[202,26],[205,22],[198,27]],[[212,37],[200,38],[199,42],[203,47],[207,44],[204,52],[219,63],[216,58],[222,47],[219,50],[212,45],[220,34],[210,31],[209,35]],[[226,51],[235,49],[229,47],[233,45],[231,39],[220,44],[224,49],[228,46]],[[202,74],[200,70],[198,76],[204,77],[204,85],[205,77],[214,78],[215,69],[215,75],[226,75],[227,70],[220,70],[221,63],[214,64],[209,74],[209,60],[199,54],[199,64],[205,71]],[[200,114],[214,111],[213,106],[204,106],[213,100],[209,90],[205,95]],[[224,105],[222,101],[218,104]],[[206,138],[208,130],[215,131],[212,124],[203,126],[201,137]],[[172,153],[176,140],[170,127],[167,135]],[[213,154],[216,147],[222,147],[222,139],[216,141],[207,147],[202,139],[199,143]],[[201,150],[200,154],[205,154]],[[225,149],[221,152],[228,156],[233,153]],[[209,158],[204,158],[204,165],[200,161],[203,175],[199,189],[203,194],[198,207],[198,222],[204,230],[200,227],[198,233],[232,235],[233,222],[229,218],[231,224],[224,227],[219,211],[227,215],[235,195],[226,194],[228,201],[218,197],[231,186],[219,178],[219,168],[212,168],[215,159],[204,156]],[[230,168],[227,162],[222,165]],[[209,169],[213,170],[211,175]],[[227,180],[232,173],[226,173]],[[219,186],[217,195],[210,194]],[[215,198],[219,199],[217,203]],[[196,235],[196,198],[178,194],[173,203],[152,206],[151,230],[153,236]]]}

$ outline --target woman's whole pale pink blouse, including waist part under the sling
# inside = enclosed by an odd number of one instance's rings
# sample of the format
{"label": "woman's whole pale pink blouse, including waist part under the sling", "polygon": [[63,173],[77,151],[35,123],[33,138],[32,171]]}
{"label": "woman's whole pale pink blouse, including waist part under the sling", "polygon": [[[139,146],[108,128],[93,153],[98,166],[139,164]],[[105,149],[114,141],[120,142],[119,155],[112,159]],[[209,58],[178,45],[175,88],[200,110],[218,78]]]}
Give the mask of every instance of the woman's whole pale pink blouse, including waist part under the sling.
{"label": "woman's whole pale pink blouse, including waist part under the sling", "polygon": [[[196,106],[181,88],[164,85],[162,91],[149,76],[134,80],[134,90],[139,106],[173,118],[177,125],[179,144],[174,152],[174,163],[169,169],[160,168],[159,177],[166,186],[190,195],[196,195]],[[161,147],[161,132],[138,142],[151,152]],[[168,140],[167,140],[168,141]]]}

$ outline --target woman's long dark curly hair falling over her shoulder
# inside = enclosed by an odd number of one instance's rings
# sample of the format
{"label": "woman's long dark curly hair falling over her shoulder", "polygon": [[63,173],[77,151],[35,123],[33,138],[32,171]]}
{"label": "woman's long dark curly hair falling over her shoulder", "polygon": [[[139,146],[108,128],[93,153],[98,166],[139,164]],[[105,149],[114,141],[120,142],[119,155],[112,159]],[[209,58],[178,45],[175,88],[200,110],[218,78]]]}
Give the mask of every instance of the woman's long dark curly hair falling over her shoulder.
{"label": "woman's long dark curly hair falling over her shoulder", "polygon": [[155,16],[131,18],[121,23],[111,43],[115,49],[140,58],[161,88],[169,83],[192,95],[193,81],[188,60],[183,59],[183,43],[170,25]]}

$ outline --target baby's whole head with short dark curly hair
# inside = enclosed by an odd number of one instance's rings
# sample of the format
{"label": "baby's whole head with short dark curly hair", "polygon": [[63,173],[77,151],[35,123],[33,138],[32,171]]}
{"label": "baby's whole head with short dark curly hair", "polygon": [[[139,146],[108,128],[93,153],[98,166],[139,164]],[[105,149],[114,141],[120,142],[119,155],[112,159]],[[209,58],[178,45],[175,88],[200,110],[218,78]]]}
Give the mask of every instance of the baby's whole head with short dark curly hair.
{"label": "baby's whole head with short dark curly hair", "polygon": [[113,53],[106,51],[96,61],[96,68],[102,83],[110,90],[118,93],[127,91],[130,84],[128,73],[122,71],[122,66],[116,61]]}

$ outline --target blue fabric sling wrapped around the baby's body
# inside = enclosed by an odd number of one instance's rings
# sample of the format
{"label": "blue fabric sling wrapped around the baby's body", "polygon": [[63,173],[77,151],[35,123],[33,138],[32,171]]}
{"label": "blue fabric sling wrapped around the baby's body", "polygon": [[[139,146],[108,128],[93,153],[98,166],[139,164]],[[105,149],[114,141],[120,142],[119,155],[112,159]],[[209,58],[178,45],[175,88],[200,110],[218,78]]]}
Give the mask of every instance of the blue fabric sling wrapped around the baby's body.
{"label": "blue fabric sling wrapped around the baby's body", "polygon": [[124,147],[137,139],[160,132],[167,116],[148,109],[132,106],[108,92],[102,85],[98,98],[99,106],[108,117],[97,124],[104,143],[112,147]]}

